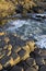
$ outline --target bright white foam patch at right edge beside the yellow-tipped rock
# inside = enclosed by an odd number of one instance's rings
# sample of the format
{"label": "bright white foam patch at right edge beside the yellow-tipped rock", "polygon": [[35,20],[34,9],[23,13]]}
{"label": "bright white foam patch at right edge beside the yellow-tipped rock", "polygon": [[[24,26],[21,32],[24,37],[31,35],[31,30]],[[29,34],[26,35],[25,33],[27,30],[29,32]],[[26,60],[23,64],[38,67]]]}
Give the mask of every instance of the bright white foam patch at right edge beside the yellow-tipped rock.
{"label": "bright white foam patch at right edge beside the yellow-tipped rock", "polygon": [[36,42],[36,45],[39,48],[46,48],[46,35],[39,36],[38,40]]}

